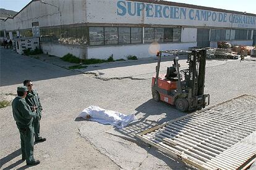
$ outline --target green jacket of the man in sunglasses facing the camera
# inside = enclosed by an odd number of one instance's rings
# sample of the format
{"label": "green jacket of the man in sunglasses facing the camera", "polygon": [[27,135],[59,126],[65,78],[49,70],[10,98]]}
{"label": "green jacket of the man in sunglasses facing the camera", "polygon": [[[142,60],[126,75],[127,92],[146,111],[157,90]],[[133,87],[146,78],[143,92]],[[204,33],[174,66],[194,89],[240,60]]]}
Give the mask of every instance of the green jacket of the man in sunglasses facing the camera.
{"label": "green jacket of the man in sunglasses facing the camera", "polygon": [[32,90],[32,92],[27,91],[27,96],[25,97],[26,102],[30,107],[38,107],[36,109],[37,116],[41,118],[41,103],[40,103],[40,97],[38,93],[35,90]]}

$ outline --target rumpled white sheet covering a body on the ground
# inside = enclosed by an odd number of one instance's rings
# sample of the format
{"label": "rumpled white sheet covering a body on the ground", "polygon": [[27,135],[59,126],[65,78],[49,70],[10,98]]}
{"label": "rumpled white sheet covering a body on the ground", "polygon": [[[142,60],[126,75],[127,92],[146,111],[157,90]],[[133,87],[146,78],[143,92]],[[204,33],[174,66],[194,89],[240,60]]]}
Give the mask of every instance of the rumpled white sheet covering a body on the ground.
{"label": "rumpled white sheet covering a body on the ground", "polygon": [[122,129],[136,119],[134,114],[124,115],[122,113],[112,110],[105,110],[97,106],[85,108],[85,110],[80,113],[78,118],[86,118],[87,115],[91,116],[90,120],[92,121],[97,121],[98,123],[102,124],[112,124],[119,129]]}

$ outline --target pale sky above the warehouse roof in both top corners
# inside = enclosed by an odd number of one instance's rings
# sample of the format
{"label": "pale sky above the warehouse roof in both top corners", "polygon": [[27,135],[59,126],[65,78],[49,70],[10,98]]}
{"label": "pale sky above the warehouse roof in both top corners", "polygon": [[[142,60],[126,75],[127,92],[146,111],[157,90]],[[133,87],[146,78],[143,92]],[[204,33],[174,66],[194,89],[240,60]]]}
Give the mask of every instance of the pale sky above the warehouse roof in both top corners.
{"label": "pale sky above the warehouse roof in both top corners", "polygon": [[[31,0],[0,0],[0,8],[15,10],[19,12]],[[152,0],[153,1],[153,0]],[[172,2],[181,2],[197,6],[215,7],[227,10],[236,10],[256,14],[255,0],[166,0]]]}

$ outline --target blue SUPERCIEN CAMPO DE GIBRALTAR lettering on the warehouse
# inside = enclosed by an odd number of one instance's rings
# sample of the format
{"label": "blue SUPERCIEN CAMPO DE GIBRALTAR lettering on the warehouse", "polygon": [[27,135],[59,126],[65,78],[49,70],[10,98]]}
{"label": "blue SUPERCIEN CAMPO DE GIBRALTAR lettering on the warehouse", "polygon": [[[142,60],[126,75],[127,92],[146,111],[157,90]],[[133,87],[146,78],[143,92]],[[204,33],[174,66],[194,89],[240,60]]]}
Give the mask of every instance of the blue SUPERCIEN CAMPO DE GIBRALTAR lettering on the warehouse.
{"label": "blue SUPERCIEN CAMPO DE GIBRALTAR lettering on the warehouse", "polygon": [[187,9],[186,7],[164,6],[143,2],[117,1],[116,14],[119,16],[142,16],[155,18],[171,18],[184,20],[198,20],[209,22],[237,23],[242,27],[245,25],[256,25],[256,17],[249,15],[227,14],[223,12],[211,12],[209,10]]}

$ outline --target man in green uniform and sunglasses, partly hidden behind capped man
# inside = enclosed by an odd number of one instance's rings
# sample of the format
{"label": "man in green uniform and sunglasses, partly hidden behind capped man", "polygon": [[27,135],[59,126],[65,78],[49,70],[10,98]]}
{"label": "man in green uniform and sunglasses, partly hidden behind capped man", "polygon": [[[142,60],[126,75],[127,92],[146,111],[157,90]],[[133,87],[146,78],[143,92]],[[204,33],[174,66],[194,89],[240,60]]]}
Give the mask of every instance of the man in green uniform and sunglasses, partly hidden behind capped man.
{"label": "man in green uniform and sunglasses, partly hidden behind capped man", "polygon": [[25,97],[26,102],[30,107],[36,107],[36,117],[32,123],[35,131],[35,142],[45,142],[46,139],[40,136],[40,119],[42,117],[41,111],[43,110],[40,103],[40,97],[33,89],[33,84],[30,79],[23,81],[23,85],[28,89],[27,96]]}

